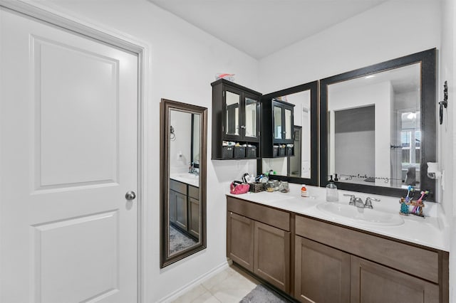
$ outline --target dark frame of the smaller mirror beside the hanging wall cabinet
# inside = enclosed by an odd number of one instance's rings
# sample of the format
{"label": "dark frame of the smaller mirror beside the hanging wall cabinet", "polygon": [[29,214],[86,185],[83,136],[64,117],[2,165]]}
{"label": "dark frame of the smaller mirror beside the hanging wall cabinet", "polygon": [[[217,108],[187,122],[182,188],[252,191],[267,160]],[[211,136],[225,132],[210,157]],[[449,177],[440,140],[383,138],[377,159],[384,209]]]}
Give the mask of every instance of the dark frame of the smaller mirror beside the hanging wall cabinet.
{"label": "dark frame of the smaller mirror beside the hanging wall cabinet", "polygon": [[[284,90],[279,90],[277,92],[271,92],[267,95],[262,95],[261,100],[273,99],[275,97],[282,97],[286,95],[291,95],[296,92],[304,92],[310,90],[311,92],[311,178],[301,178],[294,176],[279,176],[272,175],[271,179],[276,179],[280,181],[289,181],[290,183],[296,184],[307,184],[318,186],[318,81],[313,81],[310,83],[304,83],[294,87],[289,87]],[[262,105],[261,105],[262,106]],[[262,119],[271,119],[271,117],[261,117]],[[266,134],[261,134],[264,136]],[[287,157],[287,174],[290,170],[290,159]],[[257,173],[262,174],[263,167],[263,158],[260,158],[257,161]]]}

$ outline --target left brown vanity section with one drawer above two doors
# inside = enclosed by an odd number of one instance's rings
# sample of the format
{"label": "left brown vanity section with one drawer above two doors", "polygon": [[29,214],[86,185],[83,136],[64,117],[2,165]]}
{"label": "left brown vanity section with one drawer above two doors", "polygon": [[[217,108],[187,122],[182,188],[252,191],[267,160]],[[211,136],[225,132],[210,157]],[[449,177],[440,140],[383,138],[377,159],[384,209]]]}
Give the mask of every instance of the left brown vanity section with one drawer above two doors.
{"label": "left brown vanity section with one drawer above two doors", "polygon": [[227,257],[290,293],[290,215],[227,198]]}

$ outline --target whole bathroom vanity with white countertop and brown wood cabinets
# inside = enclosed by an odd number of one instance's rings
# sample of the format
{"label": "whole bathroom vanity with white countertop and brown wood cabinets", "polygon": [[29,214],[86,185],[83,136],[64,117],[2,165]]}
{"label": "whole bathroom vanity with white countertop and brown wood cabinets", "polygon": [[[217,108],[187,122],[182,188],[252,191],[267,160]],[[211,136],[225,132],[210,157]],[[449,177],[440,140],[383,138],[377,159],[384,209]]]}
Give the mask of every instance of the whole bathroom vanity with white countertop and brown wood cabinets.
{"label": "whole bathroom vanity with white countertop and brown wood cabinets", "polygon": [[449,254],[435,218],[358,222],[325,204],[323,195],[228,194],[227,257],[300,302],[448,302]]}

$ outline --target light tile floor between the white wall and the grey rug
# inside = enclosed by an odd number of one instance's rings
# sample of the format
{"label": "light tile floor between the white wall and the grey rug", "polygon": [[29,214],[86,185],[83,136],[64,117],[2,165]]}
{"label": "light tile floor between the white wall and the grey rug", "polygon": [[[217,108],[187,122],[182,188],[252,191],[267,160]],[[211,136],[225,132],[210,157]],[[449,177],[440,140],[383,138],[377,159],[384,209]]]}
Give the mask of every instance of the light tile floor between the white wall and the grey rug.
{"label": "light tile floor between the white wall and the grey rug", "polygon": [[232,265],[172,302],[238,303],[258,284],[259,282],[253,277]]}

